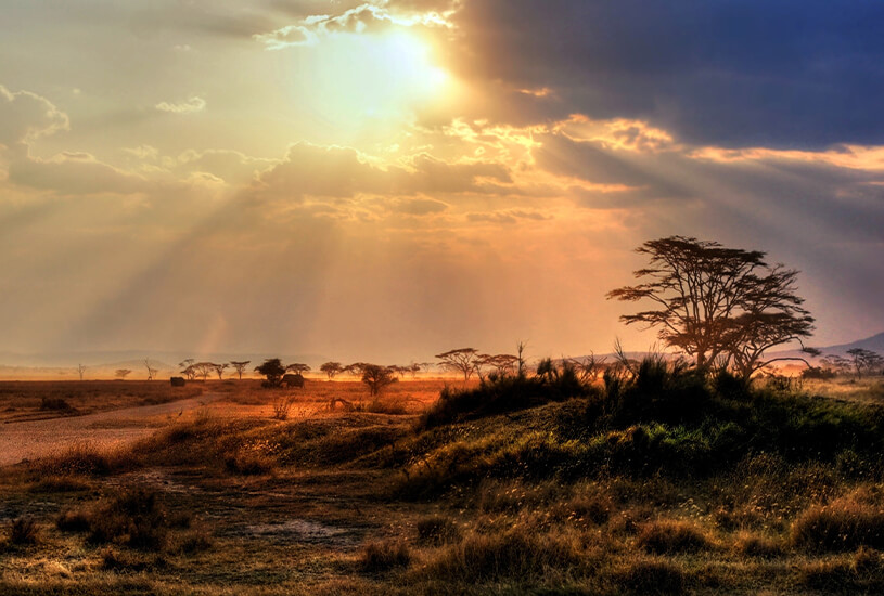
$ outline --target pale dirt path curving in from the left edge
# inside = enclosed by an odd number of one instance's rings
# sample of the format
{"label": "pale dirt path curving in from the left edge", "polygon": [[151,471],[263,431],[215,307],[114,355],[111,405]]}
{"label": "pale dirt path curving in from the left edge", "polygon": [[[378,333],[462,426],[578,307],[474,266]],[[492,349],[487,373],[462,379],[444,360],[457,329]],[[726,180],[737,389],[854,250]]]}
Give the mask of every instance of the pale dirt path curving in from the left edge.
{"label": "pale dirt path curving in from the left edge", "polygon": [[0,466],[51,455],[77,443],[88,442],[100,448],[131,443],[170,424],[184,412],[220,397],[204,393],[158,405],[0,425]]}

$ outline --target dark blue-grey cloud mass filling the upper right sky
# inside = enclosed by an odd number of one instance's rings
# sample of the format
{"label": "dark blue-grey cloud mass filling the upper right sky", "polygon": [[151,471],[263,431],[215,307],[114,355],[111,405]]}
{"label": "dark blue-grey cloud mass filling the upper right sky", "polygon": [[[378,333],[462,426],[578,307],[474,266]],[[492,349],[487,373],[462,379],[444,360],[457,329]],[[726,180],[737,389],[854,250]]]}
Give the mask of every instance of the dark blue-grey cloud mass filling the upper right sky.
{"label": "dark blue-grey cloud mass filling the upper right sky", "polygon": [[722,146],[884,134],[880,2],[470,0],[452,18],[464,74],[522,117],[641,118]]}

